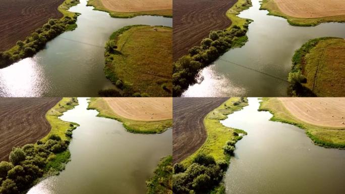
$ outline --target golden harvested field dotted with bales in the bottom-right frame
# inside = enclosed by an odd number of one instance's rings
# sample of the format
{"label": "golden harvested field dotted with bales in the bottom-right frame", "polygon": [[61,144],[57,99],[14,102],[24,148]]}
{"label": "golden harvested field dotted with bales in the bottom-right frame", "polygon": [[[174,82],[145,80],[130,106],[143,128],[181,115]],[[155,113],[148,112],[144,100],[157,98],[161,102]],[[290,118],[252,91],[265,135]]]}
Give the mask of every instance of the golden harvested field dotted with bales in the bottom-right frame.
{"label": "golden harvested field dotted with bales in the bottom-right frame", "polygon": [[318,126],[345,127],[345,98],[279,98],[296,118]]}

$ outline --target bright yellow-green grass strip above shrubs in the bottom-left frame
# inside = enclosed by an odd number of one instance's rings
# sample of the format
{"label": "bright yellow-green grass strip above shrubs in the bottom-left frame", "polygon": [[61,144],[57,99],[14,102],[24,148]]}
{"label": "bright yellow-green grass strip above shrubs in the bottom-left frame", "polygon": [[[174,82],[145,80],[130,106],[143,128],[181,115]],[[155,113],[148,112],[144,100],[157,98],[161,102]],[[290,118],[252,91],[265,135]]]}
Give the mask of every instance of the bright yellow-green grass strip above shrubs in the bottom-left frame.
{"label": "bright yellow-green grass strip above shrubs in the bottom-left frame", "polygon": [[59,119],[59,117],[62,116],[64,112],[73,109],[77,105],[78,100],[73,101],[73,98],[63,98],[59,103],[51,108],[45,115],[45,118],[51,126],[51,130],[41,140],[46,141],[50,134],[59,135],[63,140],[70,139],[65,135],[66,130],[70,128],[70,124],[73,124],[75,126],[79,125],[77,123],[63,121]]}

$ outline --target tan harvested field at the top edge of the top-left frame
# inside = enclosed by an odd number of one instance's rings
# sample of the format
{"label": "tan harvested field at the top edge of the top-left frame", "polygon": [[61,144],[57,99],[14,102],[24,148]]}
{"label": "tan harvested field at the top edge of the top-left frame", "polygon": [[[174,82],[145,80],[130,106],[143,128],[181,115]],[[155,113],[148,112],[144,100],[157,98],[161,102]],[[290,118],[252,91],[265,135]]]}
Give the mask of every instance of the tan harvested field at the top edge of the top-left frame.
{"label": "tan harvested field at the top edge of the top-left frame", "polygon": [[172,0],[101,0],[104,7],[115,12],[142,12],[172,9]]}

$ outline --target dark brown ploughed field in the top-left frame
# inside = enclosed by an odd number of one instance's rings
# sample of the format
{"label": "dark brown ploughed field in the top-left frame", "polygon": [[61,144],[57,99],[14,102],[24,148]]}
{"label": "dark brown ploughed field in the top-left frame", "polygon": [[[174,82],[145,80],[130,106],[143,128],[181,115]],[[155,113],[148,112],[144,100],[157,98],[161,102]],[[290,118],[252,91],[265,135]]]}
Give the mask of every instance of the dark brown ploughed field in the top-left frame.
{"label": "dark brown ploughed field in the top-left frame", "polygon": [[61,18],[57,7],[64,0],[2,0],[0,3],[0,51],[24,40],[49,18]]}

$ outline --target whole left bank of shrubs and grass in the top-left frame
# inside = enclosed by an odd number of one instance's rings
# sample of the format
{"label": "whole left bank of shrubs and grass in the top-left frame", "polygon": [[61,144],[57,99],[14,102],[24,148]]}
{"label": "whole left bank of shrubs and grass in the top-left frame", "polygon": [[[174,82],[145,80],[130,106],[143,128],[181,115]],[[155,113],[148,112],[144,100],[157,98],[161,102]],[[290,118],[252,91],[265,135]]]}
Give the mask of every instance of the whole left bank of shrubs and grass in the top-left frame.
{"label": "whole left bank of shrubs and grass in the top-left frame", "polygon": [[16,45],[5,52],[0,52],[0,68],[5,68],[21,59],[32,57],[42,50],[45,44],[65,31],[74,30],[79,13],[69,12],[68,9],[79,4],[79,0],[66,0],[57,8],[64,17],[49,19],[42,28],[38,28],[25,40],[18,40]]}

